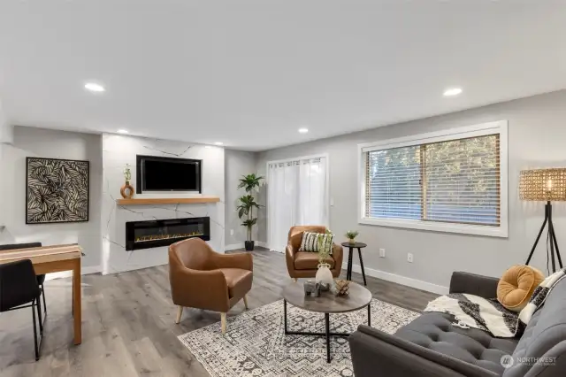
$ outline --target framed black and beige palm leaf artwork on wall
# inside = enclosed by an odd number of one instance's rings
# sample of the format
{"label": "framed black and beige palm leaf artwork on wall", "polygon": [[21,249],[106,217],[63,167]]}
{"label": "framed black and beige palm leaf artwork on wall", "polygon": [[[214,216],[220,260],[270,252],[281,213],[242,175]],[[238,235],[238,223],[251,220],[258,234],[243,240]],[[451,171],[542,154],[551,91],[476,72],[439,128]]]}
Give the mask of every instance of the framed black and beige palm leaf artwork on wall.
{"label": "framed black and beige palm leaf artwork on wall", "polygon": [[88,161],[26,158],[26,224],[88,221]]}

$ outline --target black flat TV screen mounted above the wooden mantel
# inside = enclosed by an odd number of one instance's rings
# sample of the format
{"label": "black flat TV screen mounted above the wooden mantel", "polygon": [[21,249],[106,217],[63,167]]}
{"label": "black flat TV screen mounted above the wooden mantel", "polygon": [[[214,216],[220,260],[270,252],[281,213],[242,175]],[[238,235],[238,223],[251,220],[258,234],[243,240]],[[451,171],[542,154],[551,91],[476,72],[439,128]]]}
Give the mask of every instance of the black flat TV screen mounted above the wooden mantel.
{"label": "black flat TV screen mounted above the wooden mantel", "polygon": [[[137,186],[143,191],[201,192],[202,161],[137,156]],[[138,191],[138,194],[141,192]]]}

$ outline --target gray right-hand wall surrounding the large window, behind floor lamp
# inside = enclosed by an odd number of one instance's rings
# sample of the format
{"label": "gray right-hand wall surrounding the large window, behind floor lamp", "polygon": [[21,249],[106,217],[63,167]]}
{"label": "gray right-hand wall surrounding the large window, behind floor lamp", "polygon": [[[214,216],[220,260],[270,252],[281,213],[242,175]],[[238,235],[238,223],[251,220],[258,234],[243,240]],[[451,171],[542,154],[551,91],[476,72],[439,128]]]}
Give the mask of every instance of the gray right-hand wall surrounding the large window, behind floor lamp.
{"label": "gray right-hand wall surrounding the large window, behind floor lamp", "polygon": [[[357,223],[358,143],[501,119],[509,120],[509,238]],[[270,160],[317,153],[329,154],[330,195],[334,202],[330,226],[339,240],[348,229],[359,230],[359,240],[369,245],[364,253],[366,269],[374,269],[384,277],[401,276],[444,287],[450,274],[458,270],[500,276],[509,265],[524,263],[543,220],[543,203],[524,203],[518,198],[519,171],[527,167],[566,165],[566,91],[264,151],[257,158],[257,171],[265,173],[265,164]],[[555,229],[558,242],[563,245],[566,245],[565,213],[563,204],[555,204]],[[261,225],[258,239],[266,241],[266,228],[264,223]],[[539,243],[532,265],[546,273],[544,245],[545,242]],[[379,248],[386,249],[386,258],[379,258]],[[565,246],[562,248],[566,250]],[[414,254],[412,264],[407,262],[408,252]]]}

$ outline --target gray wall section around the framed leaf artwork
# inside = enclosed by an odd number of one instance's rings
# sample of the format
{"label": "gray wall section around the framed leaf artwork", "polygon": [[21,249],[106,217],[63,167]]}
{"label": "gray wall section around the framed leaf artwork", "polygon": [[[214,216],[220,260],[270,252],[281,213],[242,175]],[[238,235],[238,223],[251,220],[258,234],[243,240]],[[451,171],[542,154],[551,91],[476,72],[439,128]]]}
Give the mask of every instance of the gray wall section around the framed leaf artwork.
{"label": "gray wall section around the framed leaf artwork", "polygon": [[[78,242],[87,254],[82,267],[100,265],[102,143],[100,135],[33,127],[14,127],[13,144],[2,146],[0,158],[0,243]],[[26,225],[26,158],[66,158],[90,161],[88,222]]]}

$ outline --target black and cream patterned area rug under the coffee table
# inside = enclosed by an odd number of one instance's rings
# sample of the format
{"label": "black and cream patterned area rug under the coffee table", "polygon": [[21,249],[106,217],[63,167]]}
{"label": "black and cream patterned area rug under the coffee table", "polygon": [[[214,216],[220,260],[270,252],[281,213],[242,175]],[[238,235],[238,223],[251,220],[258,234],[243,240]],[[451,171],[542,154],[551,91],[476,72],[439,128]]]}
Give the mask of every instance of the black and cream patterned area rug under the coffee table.
{"label": "black and cream patterned area rug under the coffee table", "polygon": [[[371,301],[371,327],[393,334],[420,314]],[[367,309],[330,315],[330,331],[347,333],[367,324]],[[287,304],[289,331],[325,331],[324,314]],[[212,377],[228,376],[353,376],[348,339],[331,337],[331,363],[326,363],[324,336],[285,335],[283,300],[229,318],[226,335],[220,322],[179,339]]]}

